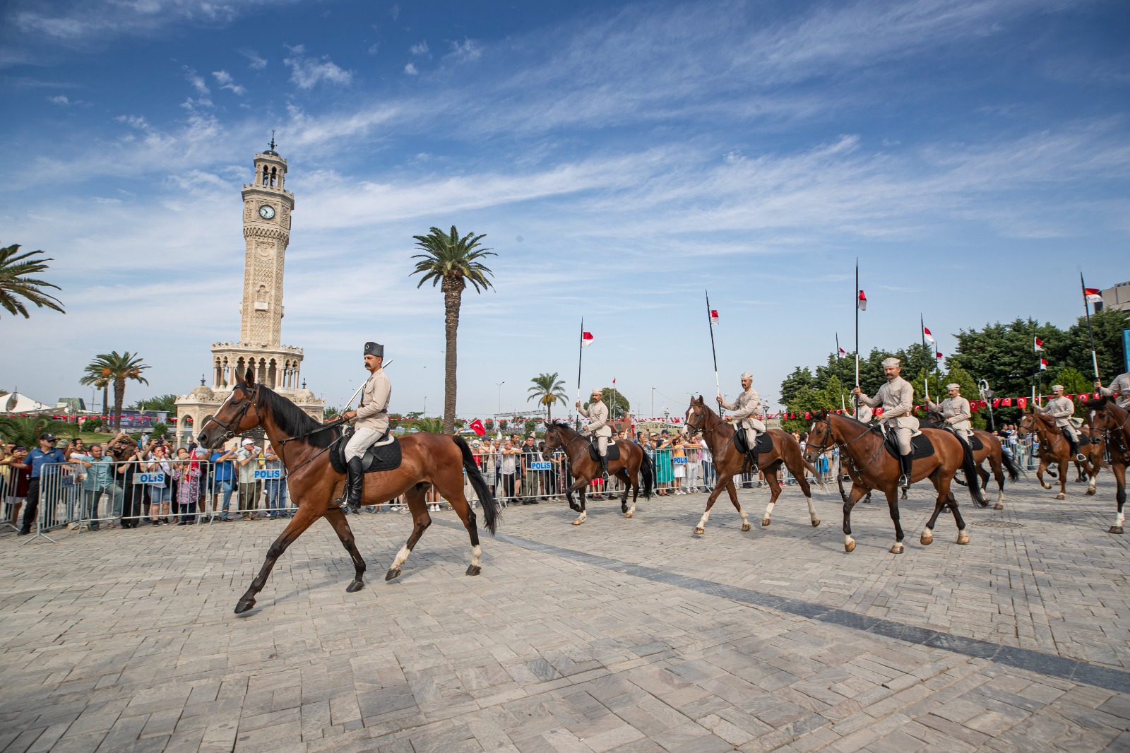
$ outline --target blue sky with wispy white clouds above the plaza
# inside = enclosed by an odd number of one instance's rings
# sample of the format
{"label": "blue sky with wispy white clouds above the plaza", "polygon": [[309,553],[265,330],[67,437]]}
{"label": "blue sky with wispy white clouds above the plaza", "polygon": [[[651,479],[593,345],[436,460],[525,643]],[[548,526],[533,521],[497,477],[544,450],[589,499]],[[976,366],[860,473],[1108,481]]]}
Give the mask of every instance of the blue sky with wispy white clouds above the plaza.
{"label": "blue sky with wispy white clouds above the plaza", "polygon": [[[0,18],[0,242],[43,249],[68,314],[5,315],[0,386],[89,390],[140,353],[184,393],[238,334],[241,184],[277,129],[296,209],[284,343],[340,404],[360,345],[394,410],[442,406],[438,289],[411,236],[487,234],[459,412],[560,372],[681,414],[775,401],[797,364],[1033,315],[1130,279],[1124,2],[380,3],[12,0]],[[14,355],[18,354],[18,355]],[[505,382],[501,390],[497,382]]]}

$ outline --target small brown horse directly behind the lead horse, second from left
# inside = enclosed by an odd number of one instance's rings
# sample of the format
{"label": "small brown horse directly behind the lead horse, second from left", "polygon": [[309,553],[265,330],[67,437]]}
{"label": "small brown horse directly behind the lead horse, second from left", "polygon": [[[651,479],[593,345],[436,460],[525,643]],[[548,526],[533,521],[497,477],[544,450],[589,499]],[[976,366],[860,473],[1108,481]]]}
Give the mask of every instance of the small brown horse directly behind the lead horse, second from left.
{"label": "small brown horse directly behind the lead horse, second from left", "polygon": [[[584,504],[584,493],[589,488],[589,482],[600,471],[600,464],[589,455],[589,439],[581,436],[572,426],[563,422],[555,422],[546,430],[546,449],[542,457],[549,460],[554,450],[562,449],[568,458],[568,469],[573,475],[573,485],[565,490],[565,499],[568,507],[575,512],[580,512],[574,526],[580,526],[589,517]],[[635,502],[643,490],[643,499],[651,499],[651,485],[654,481],[651,467],[651,458],[635,442],[616,440],[616,447],[620,450],[618,460],[608,461],[608,475],[619,478],[624,483],[624,494],[620,496],[620,512],[625,518],[635,514]],[[628,491],[632,492],[632,507],[628,508]],[[573,501],[573,492],[580,492],[579,502]]]}

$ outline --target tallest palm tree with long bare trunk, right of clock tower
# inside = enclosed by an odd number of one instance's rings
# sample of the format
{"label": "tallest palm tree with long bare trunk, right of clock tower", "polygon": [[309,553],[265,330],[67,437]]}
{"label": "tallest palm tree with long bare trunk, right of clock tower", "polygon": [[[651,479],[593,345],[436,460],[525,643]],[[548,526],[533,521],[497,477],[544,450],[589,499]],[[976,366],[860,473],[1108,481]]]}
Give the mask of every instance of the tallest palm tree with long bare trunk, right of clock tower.
{"label": "tallest palm tree with long bare trunk, right of clock tower", "polygon": [[438,227],[433,227],[427,235],[414,235],[416,245],[424,253],[412,256],[419,259],[411,275],[420,274],[419,288],[432,280],[432,287],[440,285],[443,291],[444,335],[446,336],[446,354],[443,364],[443,432],[455,433],[455,330],[459,329],[459,308],[463,298],[463,288],[469,282],[477,293],[490,287],[488,276],[494,276],[479,259],[497,256],[489,249],[479,248],[479,241],[486,237],[468,233],[460,237],[455,226],[451,234],[444,234]]}

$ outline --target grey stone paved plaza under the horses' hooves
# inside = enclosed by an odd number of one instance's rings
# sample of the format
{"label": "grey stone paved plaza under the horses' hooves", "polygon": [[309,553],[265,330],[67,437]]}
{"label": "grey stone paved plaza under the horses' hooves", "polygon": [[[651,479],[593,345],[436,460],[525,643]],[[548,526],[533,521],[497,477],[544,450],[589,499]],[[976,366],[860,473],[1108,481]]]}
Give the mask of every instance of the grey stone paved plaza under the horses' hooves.
{"label": "grey stone paved plaza under the horses' hooves", "polygon": [[[958,490],[964,494],[964,490]],[[282,521],[0,536],[0,750],[1130,750],[1128,539],[1096,497],[1034,481],[1003,511],[960,497],[972,542],[904,502],[860,504],[843,551],[785,490],[511,507],[483,574],[452,512],[401,578],[407,514],[350,517],[368,587],[316,523],[259,605],[233,607]]]}

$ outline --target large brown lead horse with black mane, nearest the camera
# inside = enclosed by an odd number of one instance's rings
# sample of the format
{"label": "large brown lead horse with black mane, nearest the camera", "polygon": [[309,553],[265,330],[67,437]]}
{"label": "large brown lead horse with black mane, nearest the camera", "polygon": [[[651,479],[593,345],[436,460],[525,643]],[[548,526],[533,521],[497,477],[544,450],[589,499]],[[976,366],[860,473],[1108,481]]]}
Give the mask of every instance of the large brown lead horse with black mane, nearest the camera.
{"label": "large brown lead horse with black mane, nearest the camera", "polygon": [[[333,470],[329,455],[330,445],[340,436],[340,430],[322,426],[285,397],[263,384],[257,384],[254,378],[254,372],[249,369],[244,381],[232,389],[219,412],[205,422],[198,441],[206,448],[214,448],[225,439],[262,426],[271,441],[271,447],[278,449],[279,459],[287,469],[287,487],[298,505],[298,512],[267,551],[262,569],[251,581],[247,592],[236,604],[235,613],[241,614],[255,605],[255,595],[267,583],[267,577],[276,560],[304,530],[322,517],[333,526],[333,530],[337,531],[338,538],[354,562],[354,580],[346,590],[358,591],[365,587],[365,561],[354,543],[354,535],[345,512],[332,502],[334,488],[340,487],[345,481],[345,474]],[[384,579],[392,580],[400,574],[400,566],[411,554],[416,542],[432,525],[428,505],[424,501],[429,486],[435,486],[436,491],[447,500],[470,534],[471,564],[467,568],[467,574],[478,575],[481,571],[479,565],[481,548],[475,511],[467,504],[467,497],[463,495],[463,470],[467,471],[471,487],[479,497],[487,530],[492,534],[495,533],[497,525],[498,508],[483,474],[479,473],[471,449],[459,436],[431,433],[410,434],[401,439],[400,444],[402,458],[400,467],[365,474],[362,494],[362,504],[380,504],[405,494],[408,499],[408,509],[412,512],[415,521],[412,533],[397,554]]]}

